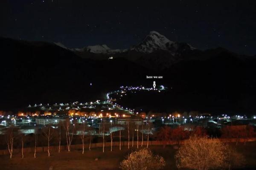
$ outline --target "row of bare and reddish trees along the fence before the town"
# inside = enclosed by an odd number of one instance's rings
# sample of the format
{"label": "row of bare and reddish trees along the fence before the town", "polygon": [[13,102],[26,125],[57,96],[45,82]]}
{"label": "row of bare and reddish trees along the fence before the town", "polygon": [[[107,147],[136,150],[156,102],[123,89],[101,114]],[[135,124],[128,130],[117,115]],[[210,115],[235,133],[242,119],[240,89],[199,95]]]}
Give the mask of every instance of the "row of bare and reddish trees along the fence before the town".
{"label": "row of bare and reddish trees along the fence before the town", "polygon": [[[141,120],[138,120],[140,122]],[[65,122],[60,122],[58,125],[46,125],[39,129],[35,127],[35,133],[24,135],[15,126],[11,126],[6,129],[5,135],[1,135],[2,148],[7,148],[10,153],[10,158],[13,155],[14,148],[21,149],[22,158],[24,147],[34,148],[34,157],[36,158],[37,147],[47,146],[48,156],[50,156],[50,146],[58,146],[58,152],[61,152],[61,145],[67,145],[68,152],[71,151],[71,144],[82,144],[82,153],[84,153],[84,144],[89,144],[89,150],[91,143],[102,142],[102,152],[105,151],[105,142],[111,142],[111,151],[113,141],[119,141],[119,150],[121,150],[121,141],[128,141],[128,149],[130,147],[142,147],[146,145],[148,148],[148,142],[150,140],[163,141],[163,147],[169,141],[180,142],[185,139],[189,139],[190,136],[211,136],[209,131],[204,127],[184,127],[178,126],[172,128],[169,126],[160,127],[157,133],[154,133],[154,125],[151,122],[128,122],[127,125],[118,125],[112,123],[106,123],[102,121],[99,123],[99,128],[95,130],[87,125],[86,122],[77,123],[67,119]],[[252,126],[226,126],[221,130],[221,138],[249,138],[256,137],[255,130]],[[78,133],[79,132],[79,133]],[[94,135],[97,133],[97,135]],[[3,139],[4,138],[4,139]],[[140,142],[140,145],[139,145]],[[5,147],[3,147],[5,146]]]}

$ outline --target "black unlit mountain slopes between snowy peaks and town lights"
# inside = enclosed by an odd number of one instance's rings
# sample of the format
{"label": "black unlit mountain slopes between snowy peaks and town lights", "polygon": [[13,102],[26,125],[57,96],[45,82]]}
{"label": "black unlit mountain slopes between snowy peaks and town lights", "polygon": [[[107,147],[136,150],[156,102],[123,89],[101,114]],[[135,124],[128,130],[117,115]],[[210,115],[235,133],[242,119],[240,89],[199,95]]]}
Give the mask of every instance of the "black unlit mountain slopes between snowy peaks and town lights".
{"label": "black unlit mountain slopes between snowy peaks and town lights", "polygon": [[81,58],[77,51],[53,43],[0,38],[0,51],[1,109],[39,102],[87,102],[121,85],[150,86],[153,80],[146,75],[162,75],[156,81],[169,87],[163,100],[170,111],[256,111],[255,57],[224,48],[185,50],[175,56],[163,50],[126,51],[111,54],[113,59],[87,52]]}

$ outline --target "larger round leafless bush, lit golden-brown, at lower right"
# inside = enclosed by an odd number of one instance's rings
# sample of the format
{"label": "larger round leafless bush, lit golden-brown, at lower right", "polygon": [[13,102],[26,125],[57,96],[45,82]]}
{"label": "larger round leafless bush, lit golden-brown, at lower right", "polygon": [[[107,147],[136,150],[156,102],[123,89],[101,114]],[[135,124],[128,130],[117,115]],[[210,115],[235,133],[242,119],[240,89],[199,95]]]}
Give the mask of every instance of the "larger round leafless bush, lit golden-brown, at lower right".
{"label": "larger round leafless bush, lit golden-brown, at lower right", "polygon": [[175,155],[178,168],[209,170],[224,167],[227,145],[219,139],[192,136],[181,145]]}

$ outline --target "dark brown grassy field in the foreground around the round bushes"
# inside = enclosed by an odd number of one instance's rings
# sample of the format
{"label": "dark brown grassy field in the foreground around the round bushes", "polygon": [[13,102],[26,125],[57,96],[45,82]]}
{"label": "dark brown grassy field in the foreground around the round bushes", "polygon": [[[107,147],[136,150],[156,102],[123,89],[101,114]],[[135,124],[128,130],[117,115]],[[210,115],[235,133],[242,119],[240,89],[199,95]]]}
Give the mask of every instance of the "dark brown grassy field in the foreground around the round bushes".
{"label": "dark brown grassy field in the foreground around the round bushes", "polygon": [[[235,145],[233,145],[235,146]],[[165,170],[175,170],[174,155],[176,150],[174,146],[150,146],[150,149],[163,156],[166,160]],[[102,148],[93,148],[92,150],[85,151],[84,154],[81,150],[71,150],[70,153],[62,151],[61,153],[52,153],[50,157],[47,152],[37,153],[37,158],[34,158],[33,153],[26,153],[24,159],[21,159],[20,154],[14,155],[10,160],[9,156],[0,156],[0,169],[1,170],[49,170],[52,166],[53,170],[118,170],[120,161],[128,156],[131,150],[136,150],[136,147],[128,150],[123,147],[113,147],[113,152],[109,147],[105,148],[105,153],[102,153]],[[243,153],[246,162],[244,170],[256,169],[256,143],[248,142],[246,145],[240,143],[237,150]]]}

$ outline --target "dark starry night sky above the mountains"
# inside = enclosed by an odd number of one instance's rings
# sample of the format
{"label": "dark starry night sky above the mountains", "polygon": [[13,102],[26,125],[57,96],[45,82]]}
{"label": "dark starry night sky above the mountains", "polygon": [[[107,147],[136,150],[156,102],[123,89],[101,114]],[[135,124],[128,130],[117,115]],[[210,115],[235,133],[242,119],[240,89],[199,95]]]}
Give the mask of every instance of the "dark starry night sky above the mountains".
{"label": "dark starry night sky above the mountains", "polygon": [[198,49],[256,54],[255,1],[169,1],[1,0],[0,36],[129,48],[157,31]]}

